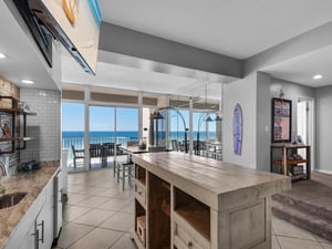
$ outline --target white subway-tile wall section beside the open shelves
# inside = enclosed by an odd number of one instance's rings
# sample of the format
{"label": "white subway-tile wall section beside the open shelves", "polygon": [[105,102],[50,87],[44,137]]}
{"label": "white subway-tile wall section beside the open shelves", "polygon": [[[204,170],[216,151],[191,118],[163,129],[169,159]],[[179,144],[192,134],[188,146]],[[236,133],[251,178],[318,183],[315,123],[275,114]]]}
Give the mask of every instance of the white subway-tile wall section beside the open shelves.
{"label": "white subway-tile wall section beside the open shelves", "polygon": [[21,162],[32,159],[32,153],[38,160],[60,159],[60,92],[21,89],[21,101],[37,113],[37,116],[27,118],[28,136],[35,139],[28,142],[27,149],[21,151]]}

